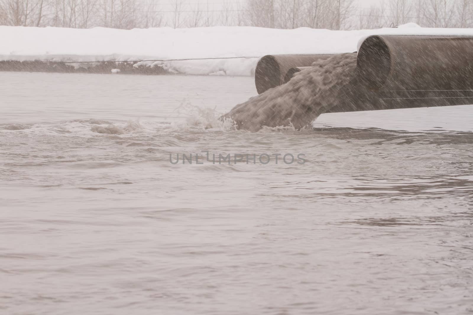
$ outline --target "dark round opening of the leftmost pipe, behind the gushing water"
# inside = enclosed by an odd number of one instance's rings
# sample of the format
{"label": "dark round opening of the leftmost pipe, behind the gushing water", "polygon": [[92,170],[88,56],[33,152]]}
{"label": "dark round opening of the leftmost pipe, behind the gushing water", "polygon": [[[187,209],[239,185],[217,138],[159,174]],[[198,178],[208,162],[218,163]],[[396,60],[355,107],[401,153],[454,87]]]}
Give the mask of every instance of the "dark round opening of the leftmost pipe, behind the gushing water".
{"label": "dark round opening of the leftmost pipe, behind the gushing water", "polygon": [[254,83],[258,94],[281,84],[280,66],[272,55],[266,55],[258,61],[254,71]]}

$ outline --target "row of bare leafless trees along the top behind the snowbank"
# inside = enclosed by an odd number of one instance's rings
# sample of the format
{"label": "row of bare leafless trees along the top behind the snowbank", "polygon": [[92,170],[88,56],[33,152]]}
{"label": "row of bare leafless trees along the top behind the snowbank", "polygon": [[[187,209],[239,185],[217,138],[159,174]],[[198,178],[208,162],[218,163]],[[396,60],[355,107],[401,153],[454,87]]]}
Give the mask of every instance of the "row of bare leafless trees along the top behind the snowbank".
{"label": "row of bare leafless trees along the top behind the snowbank", "polygon": [[[146,1],[146,2],[144,2]],[[165,21],[159,0],[0,0],[0,24],[88,28],[156,27]],[[473,27],[473,0],[385,0],[358,10],[354,0],[223,0],[186,4],[172,1],[166,25],[214,25],[328,29],[375,28],[416,22],[430,27]],[[219,13],[214,13],[219,12]]]}

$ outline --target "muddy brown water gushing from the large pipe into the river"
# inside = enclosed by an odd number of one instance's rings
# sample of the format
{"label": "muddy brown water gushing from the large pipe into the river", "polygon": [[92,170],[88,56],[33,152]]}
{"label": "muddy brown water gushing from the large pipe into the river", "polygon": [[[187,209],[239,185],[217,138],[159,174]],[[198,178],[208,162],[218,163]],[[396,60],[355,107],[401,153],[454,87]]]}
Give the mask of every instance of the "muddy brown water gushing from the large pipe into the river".
{"label": "muddy brown water gushing from the large pipe into the river", "polygon": [[263,127],[293,126],[301,129],[337,105],[351,89],[356,54],[338,54],[315,61],[288,83],[236,105],[225,118],[237,128],[257,131]]}

